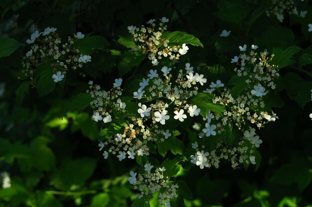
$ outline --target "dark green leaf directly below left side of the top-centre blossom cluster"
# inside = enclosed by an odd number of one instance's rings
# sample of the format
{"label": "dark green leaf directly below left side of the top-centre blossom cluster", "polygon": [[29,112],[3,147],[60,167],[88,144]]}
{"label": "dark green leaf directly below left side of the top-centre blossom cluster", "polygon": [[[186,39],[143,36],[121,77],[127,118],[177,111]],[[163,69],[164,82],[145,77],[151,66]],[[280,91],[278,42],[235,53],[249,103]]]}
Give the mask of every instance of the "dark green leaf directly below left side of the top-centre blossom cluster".
{"label": "dark green leaf directly below left side of the top-centre blossom cluster", "polygon": [[119,75],[123,76],[127,72],[129,72],[130,69],[132,69],[135,66],[139,66],[142,61],[145,59],[144,54],[134,54],[131,51],[127,51],[125,54],[122,55],[122,60],[118,64],[118,71]]}

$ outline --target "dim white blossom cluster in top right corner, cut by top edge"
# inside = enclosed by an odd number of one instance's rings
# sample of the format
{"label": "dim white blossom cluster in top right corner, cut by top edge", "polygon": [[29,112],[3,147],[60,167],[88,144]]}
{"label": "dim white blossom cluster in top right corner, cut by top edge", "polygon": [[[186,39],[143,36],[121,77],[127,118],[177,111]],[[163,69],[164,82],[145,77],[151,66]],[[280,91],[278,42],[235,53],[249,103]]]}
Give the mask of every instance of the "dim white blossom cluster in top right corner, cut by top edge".
{"label": "dim white blossom cluster in top right corner, cut by top edge", "polygon": [[[299,0],[298,0],[299,1]],[[304,0],[301,0],[304,1]],[[271,0],[270,2],[271,7],[266,10],[268,16],[276,16],[276,18],[283,22],[284,20],[284,13],[288,14],[295,14],[299,17],[306,17],[307,11],[298,11],[297,7],[295,6],[295,0]]]}

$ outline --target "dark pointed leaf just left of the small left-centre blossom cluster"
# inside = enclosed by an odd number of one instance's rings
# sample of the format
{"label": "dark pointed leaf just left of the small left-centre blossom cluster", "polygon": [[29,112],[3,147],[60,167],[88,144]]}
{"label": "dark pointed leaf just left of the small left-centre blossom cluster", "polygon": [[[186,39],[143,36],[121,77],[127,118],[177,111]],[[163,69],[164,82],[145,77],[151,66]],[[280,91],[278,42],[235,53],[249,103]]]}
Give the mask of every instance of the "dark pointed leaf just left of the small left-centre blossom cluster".
{"label": "dark pointed leaf just left of the small left-centre blossom cluster", "polygon": [[73,109],[77,109],[78,113],[80,113],[82,110],[90,105],[90,102],[93,101],[94,98],[92,98],[91,95],[87,93],[79,93],[71,97],[70,100],[71,102],[64,109],[63,115]]}

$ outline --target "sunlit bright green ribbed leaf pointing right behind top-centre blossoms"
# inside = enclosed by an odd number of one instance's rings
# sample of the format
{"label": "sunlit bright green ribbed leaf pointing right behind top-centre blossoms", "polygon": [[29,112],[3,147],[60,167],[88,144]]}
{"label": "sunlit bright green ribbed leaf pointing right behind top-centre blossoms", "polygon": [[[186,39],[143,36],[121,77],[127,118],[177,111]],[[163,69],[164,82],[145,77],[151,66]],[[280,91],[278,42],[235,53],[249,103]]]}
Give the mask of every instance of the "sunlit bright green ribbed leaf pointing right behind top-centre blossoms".
{"label": "sunlit bright green ribbed leaf pointing right behind top-centre blossoms", "polygon": [[174,32],[164,32],[161,35],[162,38],[169,41],[168,45],[182,45],[191,44],[193,46],[204,47],[197,37],[185,32],[174,31]]}

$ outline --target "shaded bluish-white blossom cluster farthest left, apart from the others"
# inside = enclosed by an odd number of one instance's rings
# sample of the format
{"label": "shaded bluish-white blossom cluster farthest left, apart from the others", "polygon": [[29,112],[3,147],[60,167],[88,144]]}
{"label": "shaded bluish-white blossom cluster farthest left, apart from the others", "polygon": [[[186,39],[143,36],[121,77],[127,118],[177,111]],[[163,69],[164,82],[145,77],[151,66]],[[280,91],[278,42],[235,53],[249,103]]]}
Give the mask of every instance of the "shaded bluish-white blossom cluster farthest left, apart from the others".
{"label": "shaded bluish-white blossom cluster farthest left, apart from the others", "polygon": [[83,64],[91,61],[91,56],[83,55],[79,49],[71,48],[71,45],[77,40],[84,38],[81,32],[68,37],[66,43],[62,43],[56,28],[47,27],[44,32],[36,30],[31,34],[30,39],[26,41],[31,45],[31,49],[26,53],[22,60],[23,79],[30,78],[32,85],[36,83],[34,76],[36,68],[44,62],[51,61],[53,69],[52,78],[54,82],[61,81],[64,74],[69,69],[81,68]]}

